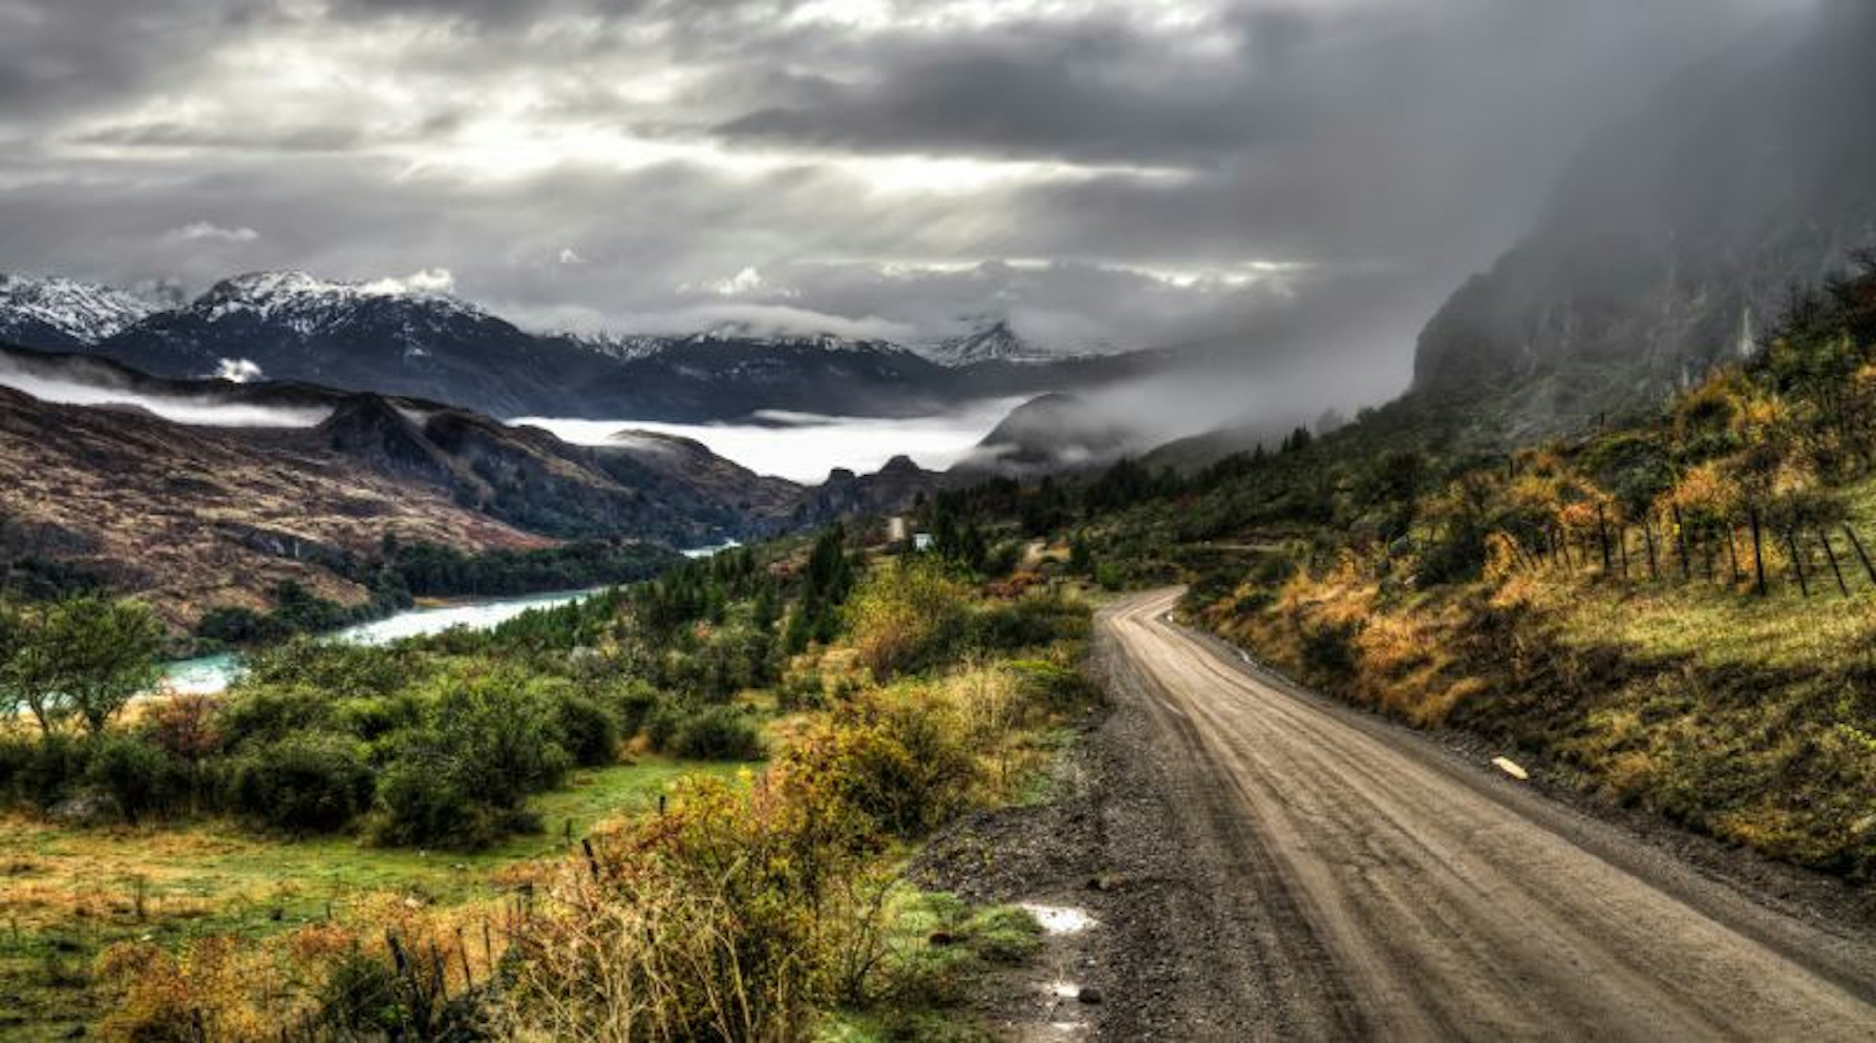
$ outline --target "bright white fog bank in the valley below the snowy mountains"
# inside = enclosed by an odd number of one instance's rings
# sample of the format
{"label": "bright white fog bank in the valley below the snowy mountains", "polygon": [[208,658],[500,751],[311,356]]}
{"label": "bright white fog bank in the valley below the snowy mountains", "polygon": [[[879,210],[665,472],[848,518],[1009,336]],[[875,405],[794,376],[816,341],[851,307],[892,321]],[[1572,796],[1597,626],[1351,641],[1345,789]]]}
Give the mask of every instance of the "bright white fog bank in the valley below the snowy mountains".
{"label": "bright white fog bank in the valley below the snowy mountains", "polygon": [[1022,398],[976,401],[951,413],[882,420],[872,416],[820,416],[762,411],[741,424],[653,424],[643,420],[557,420],[525,416],[514,424],[546,428],[574,445],[619,445],[630,431],[696,439],[717,456],[758,475],[820,484],[827,471],[846,467],[859,475],[878,471],[904,454],[917,465],[942,471],[962,460]]}

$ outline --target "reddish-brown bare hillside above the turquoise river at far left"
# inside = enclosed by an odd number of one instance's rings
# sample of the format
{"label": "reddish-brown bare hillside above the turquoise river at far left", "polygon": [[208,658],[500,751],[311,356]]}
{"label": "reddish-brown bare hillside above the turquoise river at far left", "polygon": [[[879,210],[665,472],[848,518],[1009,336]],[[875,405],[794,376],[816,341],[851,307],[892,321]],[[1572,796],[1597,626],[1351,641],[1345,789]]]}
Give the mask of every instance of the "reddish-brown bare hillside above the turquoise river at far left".
{"label": "reddish-brown bare hillside above the turquoise river at far left", "polygon": [[265,608],[287,580],[356,604],[368,591],[328,565],[386,535],[461,552],[550,544],[338,454],[0,388],[0,561],[58,561],[188,625],[212,606]]}

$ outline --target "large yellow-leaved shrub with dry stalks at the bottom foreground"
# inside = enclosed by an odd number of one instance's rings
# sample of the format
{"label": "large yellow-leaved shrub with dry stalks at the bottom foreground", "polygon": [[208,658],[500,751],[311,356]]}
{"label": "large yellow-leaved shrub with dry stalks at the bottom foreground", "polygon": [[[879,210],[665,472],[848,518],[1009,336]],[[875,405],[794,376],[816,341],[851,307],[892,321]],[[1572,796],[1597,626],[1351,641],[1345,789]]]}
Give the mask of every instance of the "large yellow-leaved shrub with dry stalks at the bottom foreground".
{"label": "large yellow-leaved shrub with dry stalks at the bottom foreground", "polygon": [[520,938],[497,1035],[518,1039],[807,1039],[831,998],[831,945],[852,863],[803,801],[711,778],[670,814],[602,837]]}

